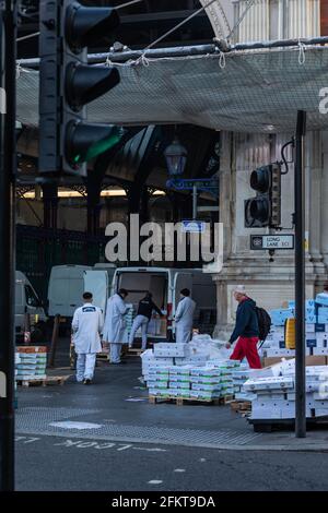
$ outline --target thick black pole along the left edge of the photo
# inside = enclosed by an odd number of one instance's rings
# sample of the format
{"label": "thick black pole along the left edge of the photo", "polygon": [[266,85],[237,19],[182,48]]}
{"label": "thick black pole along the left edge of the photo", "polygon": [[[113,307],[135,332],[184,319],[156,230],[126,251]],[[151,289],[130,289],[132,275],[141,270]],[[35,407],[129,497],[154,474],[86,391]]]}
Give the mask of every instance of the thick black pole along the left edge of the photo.
{"label": "thick black pole along the left edge of the photo", "polygon": [[14,489],[14,273],[15,273],[15,40],[16,1],[0,9],[0,490]]}

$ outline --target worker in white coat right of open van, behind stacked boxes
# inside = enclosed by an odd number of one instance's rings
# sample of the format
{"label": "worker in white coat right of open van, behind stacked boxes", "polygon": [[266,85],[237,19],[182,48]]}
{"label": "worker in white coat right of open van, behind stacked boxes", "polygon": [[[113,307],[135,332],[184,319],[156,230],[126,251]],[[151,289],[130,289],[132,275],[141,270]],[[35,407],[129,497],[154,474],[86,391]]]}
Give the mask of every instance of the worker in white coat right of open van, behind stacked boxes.
{"label": "worker in white coat right of open van, behind stacked boxes", "polygon": [[180,295],[181,299],[175,313],[175,342],[177,344],[190,342],[196,309],[196,302],[190,298],[190,290],[188,288],[184,288]]}

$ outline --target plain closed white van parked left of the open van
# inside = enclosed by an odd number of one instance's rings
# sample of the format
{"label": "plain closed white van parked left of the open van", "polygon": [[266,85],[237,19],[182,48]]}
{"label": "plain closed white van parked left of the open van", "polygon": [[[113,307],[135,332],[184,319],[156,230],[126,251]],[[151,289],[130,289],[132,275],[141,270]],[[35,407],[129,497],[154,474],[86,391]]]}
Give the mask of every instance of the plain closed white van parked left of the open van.
{"label": "plain closed white van parked left of the open van", "polygon": [[77,308],[82,305],[83,273],[89,265],[56,265],[51,269],[48,286],[48,314],[61,317],[69,325]]}

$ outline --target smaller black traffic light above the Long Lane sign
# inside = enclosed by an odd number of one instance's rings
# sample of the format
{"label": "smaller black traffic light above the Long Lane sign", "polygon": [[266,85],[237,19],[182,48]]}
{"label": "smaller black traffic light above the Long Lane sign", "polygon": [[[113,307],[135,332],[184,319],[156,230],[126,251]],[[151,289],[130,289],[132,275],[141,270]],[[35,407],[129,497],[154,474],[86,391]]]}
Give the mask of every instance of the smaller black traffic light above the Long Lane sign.
{"label": "smaller black traffic light above the Long Lane sign", "polygon": [[254,170],[250,187],[256,196],[245,201],[245,228],[280,226],[281,223],[281,166],[270,164]]}

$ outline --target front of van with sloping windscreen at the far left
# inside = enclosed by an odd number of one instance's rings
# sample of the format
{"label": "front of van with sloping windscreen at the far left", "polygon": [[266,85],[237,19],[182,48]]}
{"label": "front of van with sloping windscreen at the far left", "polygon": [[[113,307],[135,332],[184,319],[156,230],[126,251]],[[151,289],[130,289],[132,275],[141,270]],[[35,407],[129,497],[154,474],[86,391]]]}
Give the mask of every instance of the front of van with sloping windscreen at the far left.
{"label": "front of van with sloping windscreen at the far left", "polygon": [[24,336],[25,313],[30,314],[32,336],[36,327],[46,322],[43,303],[24,273],[15,273],[15,334]]}

